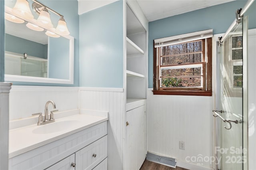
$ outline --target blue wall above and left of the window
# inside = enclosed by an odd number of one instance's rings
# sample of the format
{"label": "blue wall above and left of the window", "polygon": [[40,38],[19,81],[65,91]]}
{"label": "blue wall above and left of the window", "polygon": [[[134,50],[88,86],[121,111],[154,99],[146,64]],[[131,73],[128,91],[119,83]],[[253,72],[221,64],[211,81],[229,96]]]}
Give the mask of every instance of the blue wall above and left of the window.
{"label": "blue wall above and left of the window", "polygon": [[[148,87],[153,88],[153,40],[190,32],[213,29],[213,34],[226,32],[235,19],[235,11],[243,8],[245,0],[187,12],[149,22],[148,30]],[[249,16],[249,29],[256,28],[256,2],[245,15]]]}

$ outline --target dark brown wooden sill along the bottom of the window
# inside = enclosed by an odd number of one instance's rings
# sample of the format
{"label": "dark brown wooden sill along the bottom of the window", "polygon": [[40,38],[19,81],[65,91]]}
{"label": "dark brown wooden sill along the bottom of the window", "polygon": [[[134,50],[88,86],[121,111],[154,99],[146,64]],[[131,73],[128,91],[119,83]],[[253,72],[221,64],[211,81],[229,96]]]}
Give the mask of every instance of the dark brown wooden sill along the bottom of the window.
{"label": "dark brown wooden sill along the bottom of the window", "polygon": [[212,96],[212,91],[167,91],[152,90],[154,95]]}

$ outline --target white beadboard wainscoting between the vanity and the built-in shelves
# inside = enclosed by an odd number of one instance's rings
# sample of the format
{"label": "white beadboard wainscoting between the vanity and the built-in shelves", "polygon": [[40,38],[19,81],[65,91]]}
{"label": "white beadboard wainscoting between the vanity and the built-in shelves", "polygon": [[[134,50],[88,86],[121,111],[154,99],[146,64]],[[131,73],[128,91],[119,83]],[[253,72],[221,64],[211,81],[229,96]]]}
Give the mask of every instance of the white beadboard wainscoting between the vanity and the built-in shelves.
{"label": "white beadboard wainscoting between the vanity and the built-in shelves", "polygon": [[108,169],[122,169],[124,133],[123,89],[80,87],[80,109],[107,111],[108,115]]}

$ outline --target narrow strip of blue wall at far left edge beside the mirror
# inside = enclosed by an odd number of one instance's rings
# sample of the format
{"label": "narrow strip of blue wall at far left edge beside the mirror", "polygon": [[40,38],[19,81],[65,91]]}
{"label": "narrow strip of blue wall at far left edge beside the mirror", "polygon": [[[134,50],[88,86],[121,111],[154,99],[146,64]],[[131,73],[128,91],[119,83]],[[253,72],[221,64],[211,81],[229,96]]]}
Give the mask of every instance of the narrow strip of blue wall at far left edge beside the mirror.
{"label": "narrow strip of blue wall at far left edge beside the mirror", "polygon": [[4,81],[4,0],[0,0],[0,82]]}

